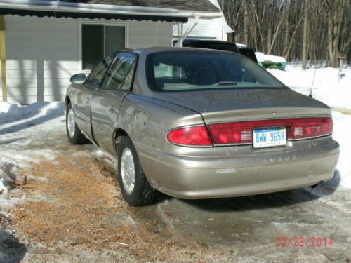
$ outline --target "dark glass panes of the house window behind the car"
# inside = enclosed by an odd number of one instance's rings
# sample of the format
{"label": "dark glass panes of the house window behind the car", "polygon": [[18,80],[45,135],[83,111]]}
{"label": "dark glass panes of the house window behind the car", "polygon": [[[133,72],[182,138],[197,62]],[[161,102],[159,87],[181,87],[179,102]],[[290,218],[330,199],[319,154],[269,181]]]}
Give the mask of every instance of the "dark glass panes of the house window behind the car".
{"label": "dark glass panes of the house window behind the car", "polygon": [[125,46],[125,25],[82,24],[81,68],[92,69],[105,55]]}

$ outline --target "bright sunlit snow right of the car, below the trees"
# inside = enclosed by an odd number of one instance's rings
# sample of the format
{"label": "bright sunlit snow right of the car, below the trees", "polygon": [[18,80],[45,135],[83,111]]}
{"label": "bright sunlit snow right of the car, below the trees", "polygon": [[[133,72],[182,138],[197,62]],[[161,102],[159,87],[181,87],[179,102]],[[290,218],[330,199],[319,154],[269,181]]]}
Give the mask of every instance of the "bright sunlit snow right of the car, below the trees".
{"label": "bright sunlit snow right of the car, below the trees", "polygon": [[267,70],[286,86],[304,95],[310,94],[313,83],[312,97],[333,109],[341,111],[351,109],[351,67],[342,70],[340,81],[338,81],[338,69],[331,67],[317,69],[311,67],[303,70],[300,64],[289,64],[286,65],[285,71]]}

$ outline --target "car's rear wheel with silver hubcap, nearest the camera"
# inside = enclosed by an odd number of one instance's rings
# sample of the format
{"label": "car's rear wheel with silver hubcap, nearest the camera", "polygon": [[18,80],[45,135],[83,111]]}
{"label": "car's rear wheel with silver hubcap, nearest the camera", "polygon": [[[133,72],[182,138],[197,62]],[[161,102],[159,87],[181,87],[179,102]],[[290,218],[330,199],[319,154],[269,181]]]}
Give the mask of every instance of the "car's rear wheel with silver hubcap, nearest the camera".
{"label": "car's rear wheel with silver hubcap, nearest the camera", "polygon": [[141,168],[138,154],[129,137],[122,137],[118,151],[118,179],[124,200],[130,205],[150,205],[157,196]]}

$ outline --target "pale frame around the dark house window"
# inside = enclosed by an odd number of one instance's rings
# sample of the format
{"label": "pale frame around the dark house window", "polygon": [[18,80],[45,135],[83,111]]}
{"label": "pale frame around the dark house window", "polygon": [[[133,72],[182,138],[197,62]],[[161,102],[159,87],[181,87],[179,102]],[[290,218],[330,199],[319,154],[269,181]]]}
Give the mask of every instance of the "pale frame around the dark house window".
{"label": "pale frame around the dark house window", "polygon": [[[82,25],[104,25],[104,55],[102,58],[105,58],[107,55],[106,50],[105,50],[105,37],[106,37],[106,26],[115,26],[115,27],[124,27],[124,46],[128,47],[129,46],[129,22],[109,22],[109,21],[86,21],[86,20],[80,20],[78,21],[78,27],[79,27],[79,71],[81,73],[89,74],[91,72],[91,69],[83,69],[83,50],[82,50],[82,45],[83,45],[83,39],[82,37]],[[116,50],[117,51],[117,50]]]}

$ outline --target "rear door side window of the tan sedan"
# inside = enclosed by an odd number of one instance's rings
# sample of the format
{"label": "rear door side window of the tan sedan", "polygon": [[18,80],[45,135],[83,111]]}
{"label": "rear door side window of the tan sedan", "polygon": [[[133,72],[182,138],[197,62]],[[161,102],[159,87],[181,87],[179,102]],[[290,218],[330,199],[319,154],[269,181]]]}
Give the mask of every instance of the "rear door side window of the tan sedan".
{"label": "rear door side window of the tan sedan", "polygon": [[103,89],[130,90],[136,55],[132,53],[119,53],[107,72]]}

